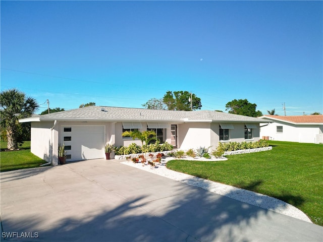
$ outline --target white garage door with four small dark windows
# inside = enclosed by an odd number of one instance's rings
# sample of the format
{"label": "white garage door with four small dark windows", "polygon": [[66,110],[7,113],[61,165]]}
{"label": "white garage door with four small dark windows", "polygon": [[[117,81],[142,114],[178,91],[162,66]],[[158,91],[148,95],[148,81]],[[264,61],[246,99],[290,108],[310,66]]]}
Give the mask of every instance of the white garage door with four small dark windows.
{"label": "white garage door with four small dark windows", "polygon": [[64,126],[60,143],[65,145],[66,161],[104,158],[104,126]]}

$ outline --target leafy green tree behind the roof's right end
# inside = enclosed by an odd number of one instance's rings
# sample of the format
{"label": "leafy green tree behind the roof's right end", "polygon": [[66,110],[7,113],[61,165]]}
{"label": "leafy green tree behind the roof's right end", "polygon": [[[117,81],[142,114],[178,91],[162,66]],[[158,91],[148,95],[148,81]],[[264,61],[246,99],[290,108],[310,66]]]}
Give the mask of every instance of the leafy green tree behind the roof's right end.
{"label": "leafy green tree behind the roof's right end", "polygon": [[250,103],[247,99],[234,99],[226,104],[226,110],[229,110],[229,113],[250,117],[262,116],[261,111],[256,111],[256,107],[255,103]]}

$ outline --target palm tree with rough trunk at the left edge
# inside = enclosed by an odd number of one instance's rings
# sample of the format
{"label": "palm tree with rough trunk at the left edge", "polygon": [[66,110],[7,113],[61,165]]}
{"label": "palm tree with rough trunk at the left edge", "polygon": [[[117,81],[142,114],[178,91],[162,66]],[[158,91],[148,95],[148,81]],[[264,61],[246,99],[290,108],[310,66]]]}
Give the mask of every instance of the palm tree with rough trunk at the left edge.
{"label": "palm tree with rough trunk at the left edge", "polygon": [[7,132],[7,148],[17,149],[18,119],[31,116],[39,106],[34,98],[26,97],[25,93],[13,88],[0,93],[0,107],[1,129]]}

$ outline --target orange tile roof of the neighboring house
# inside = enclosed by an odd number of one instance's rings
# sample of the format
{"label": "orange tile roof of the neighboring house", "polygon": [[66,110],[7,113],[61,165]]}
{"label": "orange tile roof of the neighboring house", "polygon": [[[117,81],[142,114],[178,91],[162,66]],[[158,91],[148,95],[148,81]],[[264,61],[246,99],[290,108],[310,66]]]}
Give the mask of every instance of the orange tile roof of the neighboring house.
{"label": "orange tile roof of the neighboring house", "polygon": [[279,116],[263,115],[261,118],[280,120],[292,124],[323,124],[323,115]]}

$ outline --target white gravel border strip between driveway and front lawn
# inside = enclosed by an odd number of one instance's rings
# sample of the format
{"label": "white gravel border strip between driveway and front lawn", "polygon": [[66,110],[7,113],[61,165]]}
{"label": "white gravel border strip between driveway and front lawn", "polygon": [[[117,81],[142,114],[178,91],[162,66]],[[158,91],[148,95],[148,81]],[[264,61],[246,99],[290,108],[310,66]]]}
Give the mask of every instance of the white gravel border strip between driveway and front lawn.
{"label": "white gravel border strip between driveway and front lawn", "polygon": [[[186,183],[194,187],[202,188],[204,190],[207,190],[222,196],[226,196],[241,202],[245,202],[251,205],[272,210],[277,213],[285,214],[287,216],[291,216],[291,217],[312,223],[311,220],[306,216],[306,214],[304,214],[298,208],[286,202],[283,202],[279,199],[167,169],[166,168],[167,161],[174,160],[174,159],[176,158],[167,157],[165,159],[162,159],[161,163],[157,165],[156,168],[152,168],[150,165],[143,166],[141,163],[133,163],[132,161],[123,161],[121,163],[129,166],[133,166],[138,169],[142,169],[157,175],[165,176],[173,180],[178,180],[178,181],[181,181],[182,183]],[[189,160],[189,159],[190,158],[185,158],[185,160]],[[196,159],[193,159],[193,160],[196,160]],[[197,160],[203,160],[203,159],[197,159]],[[218,160],[221,160],[221,159],[218,159]],[[207,159],[205,161],[211,161],[211,160]],[[213,159],[212,161],[215,161],[215,160]]]}

